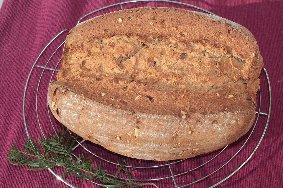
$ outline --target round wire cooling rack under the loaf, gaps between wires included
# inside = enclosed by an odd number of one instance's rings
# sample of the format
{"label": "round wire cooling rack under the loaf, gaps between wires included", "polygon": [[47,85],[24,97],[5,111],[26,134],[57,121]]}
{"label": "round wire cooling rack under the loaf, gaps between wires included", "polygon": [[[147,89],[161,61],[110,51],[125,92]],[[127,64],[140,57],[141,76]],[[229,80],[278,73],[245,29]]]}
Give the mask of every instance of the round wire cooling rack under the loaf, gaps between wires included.
{"label": "round wire cooling rack under the loaf, gaps between wires included", "polygon": [[[118,7],[119,9],[123,9],[123,5],[131,5],[130,8],[135,8],[136,7],[136,2],[141,2],[141,1],[146,1],[146,0],[135,0],[135,1],[126,1],[126,2],[121,2],[118,4],[113,4],[109,6],[105,6],[103,8],[97,9],[93,12],[90,12],[86,14],[85,16],[81,17],[78,20],[78,24],[83,21],[85,18],[91,18],[94,16],[98,16],[100,14],[107,13],[107,9],[110,7]],[[182,6],[181,8],[188,8],[188,9],[196,9],[198,11],[203,11],[207,14],[212,14],[215,15],[205,9],[202,9],[197,6],[193,6],[190,4],[185,4],[181,2],[176,2],[176,1],[167,1],[167,0],[157,0],[159,2],[164,2],[166,3],[165,6],[170,5],[170,6]],[[148,2],[148,1],[147,1]],[[155,3],[156,1],[153,1]],[[153,5],[154,6],[154,5]],[[104,11],[104,12],[103,12]],[[106,12],[105,12],[106,11]],[[31,137],[29,134],[30,129],[40,129],[40,132],[42,133],[42,136],[45,137],[48,133],[50,133],[50,130],[53,130],[55,134],[57,134],[58,129],[60,129],[59,122],[55,120],[55,118],[50,115],[50,111],[48,108],[47,104],[47,87],[51,80],[55,79],[55,73],[58,72],[58,69],[60,67],[60,61],[62,59],[62,50],[63,50],[63,45],[65,43],[64,38],[66,34],[68,33],[68,30],[64,29],[60,33],[58,33],[48,44],[47,46],[42,50],[42,52],[39,54],[37,57],[36,61],[34,62],[29,75],[27,77],[26,85],[24,88],[24,97],[23,97],[23,119],[24,119],[24,126],[25,130],[27,133],[28,137]],[[64,36],[65,34],[65,36]],[[43,61],[43,63],[42,63]],[[41,72],[41,73],[40,73]],[[182,160],[175,160],[175,161],[167,161],[167,162],[157,162],[157,161],[145,161],[145,160],[136,160],[132,159],[129,157],[124,157],[124,156],[119,156],[117,154],[114,154],[112,152],[109,152],[100,146],[97,146],[95,144],[88,143],[88,141],[80,139],[78,140],[78,144],[75,145],[73,148],[73,155],[74,157],[77,157],[76,151],[79,153],[84,153],[88,155],[94,156],[97,160],[103,160],[105,163],[108,163],[109,165],[113,165],[113,168],[119,167],[119,164],[116,162],[113,162],[111,160],[114,155],[115,157],[121,157],[123,159],[126,159],[127,164],[132,164],[132,165],[125,165],[125,167],[132,167],[133,170],[135,171],[142,171],[139,174],[144,174],[144,177],[147,176],[147,174],[152,174],[151,179],[145,179],[143,178],[143,175],[139,175],[136,178],[133,177],[132,181],[138,181],[138,182],[158,182],[162,181],[165,179],[171,179],[171,186],[170,187],[175,187],[175,188],[181,188],[181,187],[190,187],[202,182],[204,179],[210,179],[208,187],[215,187],[218,184],[221,184],[224,182],[226,179],[231,177],[233,174],[235,174],[241,167],[243,167],[254,155],[255,151],[259,147],[264,134],[266,132],[266,128],[268,126],[269,118],[270,118],[270,110],[271,110],[271,89],[270,89],[270,82],[269,82],[269,77],[267,74],[267,71],[265,68],[262,69],[262,74],[265,75],[265,80],[261,80],[261,86],[264,86],[264,91],[266,95],[262,97],[261,95],[261,88],[259,88],[259,92],[257,95],[258,98],[258,106],[256,108],[256,120],[254,122],[253,127],[251,130],[243,136],[240,141],[236,142],[236,145],[232,144],[232,146],[227,145],[221,150],[218,150],[216,152],[213,152],[208,155],[204,156],[198,156],[194,157],[191,159],[182,159]],[[31,80],[31,78],[33,78]],[[37,82],[34,82],[34,80],[37,80]],[[31,90],[34,91],[31,91]],[[26,104],[26,100],[28,97],[31,97],[32,100],[35,99],[35,109],[36,109],[36,119],[37,119],[37,125],[36,123],[33,122],[28,122],[29,119],[32,119],[30,117],[32,115],[30,109],[30,105]],[[261,105],[264,103],[266,106],[267,112],[261,112]],[[27,110],[27,111],[26,111]],[[34,115],[34,114],[33,114]],[[42,119],[45,119],[43,121]],[[48,123],[46,123],[46,119]],[[43,125],[44,122],[44,125]],[[258,123],[260,122],[260,123]],[[46,130],[46,131],[44,131]],[[252,138],[253,142],[248,143],[248,141],[253,137],[255,134],[254,132],[259,132],[261,133],[261,136],[259,138]],[[258,134],[260,135],[260,134]],[[32,135],[32,137],[37,137],[40,135]],[[246,151],[247,149],[250,149],[249,151]],[[241,159],[241,163],[233,163],[233,159],[235,159],[240,152],[243,152],[245,150],[246,155],[248,156],[246,159]],[[230,153],[231,155],[228,155],[228,158],[223,157],[223,155],[226,155],[225,152]],[[232,153],[231,153],[232,152]],[[195,163],[198,161],[197,163]],[[190,162],[188,164],[188,162]],[[227,172],[227,169],[225,169],[226,166],[230,165],[233,163],[233,170]],[[208,168],[208,166],[210,166]],[[158,173],[154,173],[157,171],[157,169],[163,169],[166,168],[167,171],[165,170],[162,175]],[[175,170],[173,170],[175,168]],[[231,167],[230,167],[231,168]],[[209,172],[206,172],[209,169]],[[59,175],[58,172],[55,172],[54,169],[48,169],[57,179],[62,181],[63,183],[67,184],[70,187],[75,188],[76,186],[71,184],[70,182],[67,182],[67,180],[62,179]],[[221,172],[225,171],[225,172]],[[192,173],[195,172],[201,172],[201,176],[195,176],[197,178],[194,178],[191,176]],[[217,178],[212,178],[211,177],[215,174],[218,174]],[[113,173],[109,173],[108,175],[110,177],[114,177]],[[185,176],[185,178],[184,178]],[[183,179],[187,179],[187,181],[182,181],[180,183],[177,183],[176,178],[182,177]],[[122,180],[127,180],[123,176],[117,177]],[[95,184],[98,184],[98,182],[93,182]]]}

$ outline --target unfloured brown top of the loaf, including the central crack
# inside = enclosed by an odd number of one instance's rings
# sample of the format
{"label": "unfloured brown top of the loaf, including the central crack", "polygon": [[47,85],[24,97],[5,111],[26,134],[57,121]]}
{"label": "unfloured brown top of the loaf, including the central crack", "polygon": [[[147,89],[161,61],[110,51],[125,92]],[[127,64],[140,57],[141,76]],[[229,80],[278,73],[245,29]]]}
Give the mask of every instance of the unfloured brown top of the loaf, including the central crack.
{"label": "unfloured brown top of the loaf, including the central crack", "polygon": [[57,83],[113,108],[188,117],[254,110],[262,66],[254,36],[239,24],[143,7],[73,28]]}

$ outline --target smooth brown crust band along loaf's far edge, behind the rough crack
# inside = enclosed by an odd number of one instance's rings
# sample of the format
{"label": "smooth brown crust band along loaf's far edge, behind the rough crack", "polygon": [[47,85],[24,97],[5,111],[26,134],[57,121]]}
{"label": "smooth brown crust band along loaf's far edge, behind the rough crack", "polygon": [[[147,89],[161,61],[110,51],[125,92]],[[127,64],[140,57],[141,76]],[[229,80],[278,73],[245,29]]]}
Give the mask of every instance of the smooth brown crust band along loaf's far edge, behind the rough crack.
{"label": "smooth brown crust band along loaf's far edge, behind the rough crack", "polygon": [[[138,12],[136,12],[139,10]],[[129,11],[133,11],[132,13]],[[128,20],[128,16],[131,15],[133,19]],[[157,15],[159,17],[157,17]],[[174,15],[174,18],[168,15]],[[154,22],[157,22],[160,27],[152,28],[149,24],[152,21],[152,16],[155,16]],[[122,22],[118,23],[117,19],[122,18]],[[140,19],[142,18],[142,19]],[[162,27],[163,22],[167,27]],[[134,28],[133,28],[134,27]],[[108,32],[105,33],[104,29],[107,28]],[[174,29],[177,28],[177,29]],[[132,35],[164,35],[168,33],[173,36],[180,35],[182,31],[194,31],[196,34],[202,36],[199,42],[208,42],[212,45],[226,44],[226,49],[223,51],[232,50],[232,53],[237,54],[239,58],[246,59],[251,62],[250,70],[246,70],[243,78],[248,78],[251,74],[254,78],[258,78],[260,70],[263,66],[263,59],[259,53],[259,48],[252,33],[245,27],[237,24],[233,21],[227,20],[219,16],[213,16],[210,14],[187,11],[177,8],[157,8],[157,7],[143,7],[123,11],[115,11],[101,16],[97,16],[93,19],[84,21],[72,30],[70,30],[65,43],[69,45],[81,45],[82,41],[88,40],[91,36],[89,34],[83,35],[84,32],[92,34],[92,36],[105,37],[113,34],[124,35],[130,33]],[[210,34],[208,34],[210,33]],[[195,35],[187,35],[187,40],[194,40]],[[250,47],[249,47],[250,46]],[[63,54],[62,65],[66,63],[65,51]],[[254,68],[258,68],[259,71],[254,71]],[[256,73],[254,75],[254,73]]]}

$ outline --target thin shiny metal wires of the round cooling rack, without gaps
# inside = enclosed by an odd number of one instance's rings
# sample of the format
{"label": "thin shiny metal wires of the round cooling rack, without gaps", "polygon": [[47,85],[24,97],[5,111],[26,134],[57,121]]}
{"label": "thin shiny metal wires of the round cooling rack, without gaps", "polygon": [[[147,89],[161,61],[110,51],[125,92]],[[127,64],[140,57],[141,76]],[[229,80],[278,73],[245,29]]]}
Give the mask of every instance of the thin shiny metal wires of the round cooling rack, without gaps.
{"label": "thin shiny metal wires of the round cooling rack, without gaps", "polygon": [[[95,11],[92,11],[88,14],[86,14],[85,16],[81,17],[79,20],[78,20],[78,24],[83,20],[85,19],[86,17],[88,16],[91,16],[92,14],[96,13],[96,12],[99,12],[101,10],[104,10],[104,9],[107,9],[107,8],[110,8],[110,7],[113,7],[113,6],[120,6],[120,8],[123,10],[123,5],[124,4],[134,4],[136,2],[141,2],[141,1],[149,1],[149,0],[134,0],[134,1],[126,1],[126,2],[121,2],[121,3],[117,3],[117,4],[112,4],[112,5],[109,5],[109,6],[105,6],[103,8],[100,8],[100,9],[97,9]],[[193,5],[190,5],[190,4],[186,4],[186,3],[182,3],[182,2],[177,2],[177,1],[168,1],[168,0],[153,0],[153,1],[160,1],[160,2],[166,2],[166,3],[172,3],[172,4],[179,4],[179,5],[183,5],[183,6],[187,6],[187,7],[190,7],[190,8],[194,8],[194,9],[197,9],[197,10],[200,10],[200,11],[203,11],[207,14],[212,14],[212,15],[215,15],[213,13],[211,13],[210,11],[207,11],[205,9],[202,9],[200,7],[197,7],[197,6],[193,6]],[[45,65],[44,66],[41,66],[41,65],[38,65],[38,61],[40,60],[40,58],[42,57],[42,55],[47,51],[47,48],[50,47],[50,45],[59,37],[61,36],[63,33],[65,32],[68,32],[68,30],[64,29],[62,30],[60,33],[58,33],[48,44],[47,46],[45,46],[45,48],[42,50],[42,52],[39,54],[39,56],[37,57],[37,59],[35,60],[30,72],[29,72],[29,75],[27,77],[27,81],[26,81],[26,85],[25,85],[25,88],[24,88],[24,96],[23,96],[23,106],[22,106],[22,110],[23,110],[23,119],[24,119],[24,127],[25,127],[25,130],[26,130],[26,133],[27,133],[27,137],[30,138],[30,134],[29,134],[29,131],[28,131],[28,124],[27,124],[27,118],[26,118],[26,96],[27,96],[27,88],[28,88],[28,85],[29,85],[29,81],[30,81],[30,78],[32,76],[32,73],[34,71],[35,68],[40,68],[42,69],[42,72],[41,72],[41,75],[40,75],[40,78],[39,78],[39,81],[37,83],[37,87],[36,87],[36,95],[35,95],[35,106],[36,106],[36,116],[37,116],[37,122],[38,122],[38,125],[39,125],[39,129],[43,135],[43,137],[45,138],[45,134],[44,134],[44,131],[42,130],[42,124],[40,122],[40,118],[39,118],[39,110],[38,110],[38,94],[39,92],[43,92],[43,91],[40,91],[40,84],[41,84],[41,81],[42,81],[42,78],[43,78],[43,74],[45,73],[45,71],[52,71],[52,75],[50,77],[50,80],[48,83],[51,82],[52,78],[53,78],[53,75],[55,75],[55,72],[58,72],[59,70],[57,69],[57,67],[59,66],[59,63],[61,61],[61,58],[59,58],[59,60],[57,61],[57,64],[55,66],[55,68],[50,68],[48,66],[48,64],[50,63],[50,60],[52,58],[55,57],[55,54],[59,51],[59,50],[62,50],[62,46],[64,45],[65,41],[63,41],[62,43],[60,43],[60,45],[55,49],[55,51],[53,51],[53,53],[49,56],[48,60],[46,61]],[[182,159],[182,160],[176,160],[176,161],[167,161],[165,164],[156,164],[156,165],[142,165],[142,166],[130,166],[130,165],[125,165],[125,167],[132,167],[134,169],[146,169],[146,170],[154,170],[154,169],[157,169],[157,168],[161,168],[161,167],[168,167],[169,168],[169,171],[170,171],[170,174],[164,176],[164,177],[153,177],[151,179],[142,179],[142,178],[139,178],[139,179],[132,179],[132,181],[145,181],[145,182],[148,182],[148,181],[159,181],[159,180],[162,180],[162,179],[169,179],[169,178],[172,178],[172,181],[173,181],[173,185],[175,188],[181,188],[181,187],[187,187],[189,185],[192,185],[192,184],[195,184],[197,182],[200,182],[202,181],[203,179],[205,178],[208,178],[210,177],[212,174],[218,172],[219,170],[221,170],[224,166],[226,166],[229,162],[231,162],[237,155],[239,152],[241,152],[241,150],[244,148],[244,146],[246,145],[246,143],[248,142],[248,140],[250,139],[250,137],[252,136],[255,128],[256,128],[256,125],[257,125],[257,122],[259,120],[259,117],[260,116],[266,116],[266,121],[265,121],[265,126],[264,126],[264,129],[262,131],[262,134],[261,134],[261,137],[259,138],[259,140],[257,141],[257,144],[256,146],[254,147],[254,149],[251,151],[251,153],[249,154],[249,156],[246,158],[246,160],[244,160],[236,169],[234,169],[232,172],[230,172],[230,174],[226,175],[225,177],[223,177],[220,181],[218,182],[215,182],[214,184],[210,185],[210,187],[215,187],[219,184],[221,184],[222,182],[224,182],[226,179],[228,179],[229,177],[231,177],[233,174],[235,174],[239,169],[241,169],[241,167],[243,167],[250,159],[251,157],[254,155],[255,151],[257,150],[257,148],[259,147],[263,137],[264,137],[264,134],[266,132],[266,129],[267,129],[267,126],[268,126],[268,122],[269,122],[269,118],[270,118],[270,111],[271,111],[271,87],[270,87],[270,82],[269,82],[269,77],[268,77],[268,74],[267,74],[267,71],[265,68],[262,69],[263,73],[265,74],[265,77],[266,77],[266,82],[267,82],[267,90],[268,90],[268,112],[267,113],[264,113],[264,112],[261,112],[261,88],[259,88],[259,92],[258,92],[258,95],[259,95],[259,103],[258,103],[258,111],[256,112],[257,113],[257,117],[256,117],[256,120],[255,120],[255,123],[254,123],[254,126],[252,127],[248,137],[246,138],[246,140],[243,142],[243,144],[240,146],[240,148],[235,152],[235,154],[228,160],[226,160],[226,162],[224,162],[220,167],[216,168],[215,170],[213,170],[212,172],[204,175],[203,177],[199,178],[199,179],[195,179],[194,181],[190,182],[190,183],[185,183],[185,184],[182,184],[182,185],[177,185],[177,182],[175,180],[175,177],[179,177],[181,175],[184,175],[184,174],[188,174],[189,172],[192,172],[192,171],[195,171],[195,170],[198,170],[200,169],[201,167],[204,167],[206,164],[212,162],[215,158],[217,158],[219,155],[221,155],[221,153],[223,153],[223,151],[226,150],[226,148],[228,147],[228,145],[226,147],[224,147],[223,149],[221,149],[220,151],[216,151],[213,153],[213,156],[206,160],[205,162],[203,162],[202,164],[199,164],[198,166],[196,167],[193,167],[191,169],[187,169],[183,172],[180,172],[180,173],[176,173],[174,174],[173,173],[173,170],[172,170],[172,166],[173,165],[176,165],[178,163],[182,163],[183,161],[185,161],[186,159]],[[46,90],[44,91],[46,92]],[[47,95],[47,93],[46,93]],[[47,102],[47,100],[46,100]],[[50,125],[53,129],[53,131],[55,132],[55,134],[57,134],[56,132],[56,129],[55,129],[55,126],[54,126],[54,123],[52,122],[52,118],[50,116],[50,111],[49,111],[49,108],[48,108],[48,104],[46,103],[46,108],[47,108],[47,116],[49,118],[49,122],[50,122]],[[46,115],[45,115],[46,117]],[[83,143],[85,142],[85,140],[80,140],[80,141],[77,141],[78,144],[75,145],[73,147],[73,151],[76,150],[78,147],[81,147],[83,148],[83,150],[85,152],[88,152],[89,154],[97,157],[98,159],[100,160],[103,160],[109,164],[112,164],[112,165],[119,165],[118,163],[116,162],[113,162],[111,160],[107,160],[103,157],[101,157],[100,155],[98,155],[97,153],[95,153],[95,151],[91,150],[90,148],[88,148],[87,146],[84,146]],[[74,157],[77,157],[74,153],[73,153],[73,156]],[[131,158],[129,158],[129,160],[131,160]],[[59,179],[60,181],[62,181],[63,183],[67,184],[68,186],[70,187],[73,187],[75,188],[75,186],[67,181],[65,181],[64,179],[62,179],[56,172],[54,172],[52,169],[48,169],[55,177],[57,177],[57,179]],[[108,174],[109,176],[111,177],[114,177],[113,174]],[[122,180],[127,180],[126,178],[123,178],[123,177],[117,177],[119,179],[122,179]],[[99,183],[97,182],[93,182],[97,185],[99,185]]]}

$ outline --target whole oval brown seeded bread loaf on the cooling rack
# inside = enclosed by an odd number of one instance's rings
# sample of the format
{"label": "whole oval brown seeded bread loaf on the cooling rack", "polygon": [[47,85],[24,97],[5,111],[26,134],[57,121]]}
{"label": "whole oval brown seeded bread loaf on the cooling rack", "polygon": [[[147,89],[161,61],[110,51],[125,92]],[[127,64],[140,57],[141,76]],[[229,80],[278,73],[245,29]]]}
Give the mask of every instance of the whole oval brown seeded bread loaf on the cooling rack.
{"label": "whole oval brown seeded bread loaf on the cooling rack", "polygon": [[143,7],[68,34],[53,115],[112,152],[175,160],[238,140],[255,118],[263,60],[254,36],[218,16]]}

